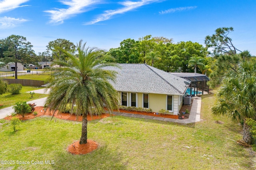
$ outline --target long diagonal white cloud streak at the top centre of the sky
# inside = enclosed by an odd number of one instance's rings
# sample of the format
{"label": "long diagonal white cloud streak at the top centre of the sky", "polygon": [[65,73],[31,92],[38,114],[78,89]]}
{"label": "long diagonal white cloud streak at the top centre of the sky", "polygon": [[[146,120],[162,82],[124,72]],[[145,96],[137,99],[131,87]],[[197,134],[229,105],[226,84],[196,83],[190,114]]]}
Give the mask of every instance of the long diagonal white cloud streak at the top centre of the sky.
{"label": "long diagonal white cloud streak at the top centre of the sky", "polygon": [[120,2],[120,4],[124,6],[124,8],[120,8],[118,10],[107,10],[104,12],[104,14],[101,14],[95,20],[87,22],[85,24],[91,25],[91,24],[98,23],[100,21],[106,21],[106,20],[109,20],[112,16],[114,16],[116,14],[123,14],[125,12],[139,8],[140,6],[144,6],[144,5],[147,5],[150,3],[160,2],[160,1],[162,1],[162,0],[140,0],[140,1],[135,1],[135,2],[134,1]]}

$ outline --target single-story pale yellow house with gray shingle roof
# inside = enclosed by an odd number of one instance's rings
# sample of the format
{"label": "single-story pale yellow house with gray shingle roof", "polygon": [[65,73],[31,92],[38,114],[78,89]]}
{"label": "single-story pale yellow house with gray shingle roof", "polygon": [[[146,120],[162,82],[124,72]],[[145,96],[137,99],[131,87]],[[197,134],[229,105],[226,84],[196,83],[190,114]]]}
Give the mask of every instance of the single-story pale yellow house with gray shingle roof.
{"label": "single-story pale yellow house with gray shingle roof", "polygon": [[120,105],[146,107],[158,112],[168,110],[178,115],[189,80],[147,64],[117,64],[106,69],[118,72],[111,82],[120,95]]}

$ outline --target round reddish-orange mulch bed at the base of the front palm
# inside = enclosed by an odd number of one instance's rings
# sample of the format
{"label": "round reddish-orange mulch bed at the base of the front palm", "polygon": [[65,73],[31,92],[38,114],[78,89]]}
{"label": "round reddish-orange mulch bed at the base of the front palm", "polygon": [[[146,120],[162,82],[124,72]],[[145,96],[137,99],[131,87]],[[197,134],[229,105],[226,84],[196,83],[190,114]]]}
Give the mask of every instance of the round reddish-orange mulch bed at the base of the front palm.
{"label": "round reddish-orange mulch bed at the base of the front palm", "polygon": [[87,154],[98,148],[98,143],[90,139],[87,140],[86,144],[79,144],[79,141],[72,143],[68,146],[68,152],[72,154]]}

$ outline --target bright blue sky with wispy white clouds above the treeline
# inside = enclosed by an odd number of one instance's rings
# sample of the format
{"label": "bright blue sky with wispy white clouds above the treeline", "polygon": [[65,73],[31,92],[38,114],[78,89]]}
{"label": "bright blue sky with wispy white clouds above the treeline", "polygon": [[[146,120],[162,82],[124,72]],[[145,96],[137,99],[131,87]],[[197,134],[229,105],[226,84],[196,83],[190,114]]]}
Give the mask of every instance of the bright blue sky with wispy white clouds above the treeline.
{"label": "bright blue sky with wispy white clouds above the treeline", "polygon": [[106,50],[146,35],[204,45],[218,27],[256,55],[255,0],[0,0],[0,39],[22,35],[36,53],[58,38]]}

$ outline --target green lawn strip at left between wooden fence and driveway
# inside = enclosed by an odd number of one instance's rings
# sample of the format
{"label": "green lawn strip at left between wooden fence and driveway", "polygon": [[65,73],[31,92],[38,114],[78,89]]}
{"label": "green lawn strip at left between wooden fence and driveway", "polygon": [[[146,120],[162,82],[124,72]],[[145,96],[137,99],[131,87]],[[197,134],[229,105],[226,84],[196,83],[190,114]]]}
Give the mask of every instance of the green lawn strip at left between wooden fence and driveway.
{"label": "green lawn strip at left between wooden fence and driveway", "polygon": [[35,100],[39,98],[44,98],[47,96],[47,94],[34,94],[33,98],[31,98],[31,95],[29,93],[25,92],[33,92],[34,90],[41,89],[41,87],[30,87],[30,86],[22,86],[22,90],[20,90],[20,94],[10,94],[6,93],[0,96],[0,109],[3,109],[5,107],[13,106],[16,102],[19,101],[30,101]]}

